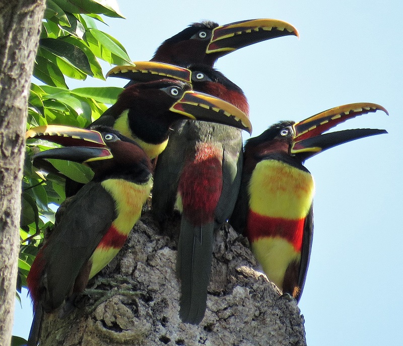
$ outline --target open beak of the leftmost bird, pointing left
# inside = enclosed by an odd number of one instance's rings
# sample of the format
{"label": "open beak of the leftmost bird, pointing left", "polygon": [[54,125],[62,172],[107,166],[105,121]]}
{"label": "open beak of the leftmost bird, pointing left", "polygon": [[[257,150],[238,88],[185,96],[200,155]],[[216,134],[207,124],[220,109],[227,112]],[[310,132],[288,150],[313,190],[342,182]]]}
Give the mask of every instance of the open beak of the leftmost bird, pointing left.
{"label": "open beak of the leftmost bird, pointing left", "polygon": [[29,129],[26,139],[42,139],[64,146],[45,150],[33,156],[34,162],[43,159],[69,160],[79,163],[113,158],[98,131],[83,128],[47,125]]}

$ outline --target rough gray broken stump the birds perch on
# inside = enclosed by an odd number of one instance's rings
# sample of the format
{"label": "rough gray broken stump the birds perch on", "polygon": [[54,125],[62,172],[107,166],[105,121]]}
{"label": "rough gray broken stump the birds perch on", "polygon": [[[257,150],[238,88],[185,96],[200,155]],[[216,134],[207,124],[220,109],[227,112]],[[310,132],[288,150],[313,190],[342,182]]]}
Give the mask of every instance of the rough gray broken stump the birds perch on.
{"label": "rough gray broken stump the birds perch on", "polygon": [[162,235],[145,213],[123,249],[90,282],[85,307],[65,318],[58,312],[45,316],[41,346],[306,344],[296,301],[281,297],[252,268],[247,240],[227,228],[216,234],[205,318],[200,325],[182,323],[175,273],[178,229],[176,220],[166,228],[173,236]]}

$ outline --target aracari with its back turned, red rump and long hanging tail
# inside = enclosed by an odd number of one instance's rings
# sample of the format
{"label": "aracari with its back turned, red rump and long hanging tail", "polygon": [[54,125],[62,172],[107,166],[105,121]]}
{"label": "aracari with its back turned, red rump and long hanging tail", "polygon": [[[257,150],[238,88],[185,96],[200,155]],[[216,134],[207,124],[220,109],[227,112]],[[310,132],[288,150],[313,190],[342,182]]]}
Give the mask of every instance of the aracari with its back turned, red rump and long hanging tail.
{"label": "aracari with its back turned, red rump and long hanging tail", "polygon": [[[108,75],[130,80],[161,76],[179,79],[249,113],[242,90],[207,65],[194,64],[186,69],[144,61],[116,66]],[[206,310],[214,229],[230,217],[238,196],[243,162],[241,130],[207,122],[182,122],[170,135],[166,150],[167,155],[158,157],[154,174],[153,213],[163,221],[173,213],[175,202],[182,212],[177,256],[180,317],[199,323]]]}

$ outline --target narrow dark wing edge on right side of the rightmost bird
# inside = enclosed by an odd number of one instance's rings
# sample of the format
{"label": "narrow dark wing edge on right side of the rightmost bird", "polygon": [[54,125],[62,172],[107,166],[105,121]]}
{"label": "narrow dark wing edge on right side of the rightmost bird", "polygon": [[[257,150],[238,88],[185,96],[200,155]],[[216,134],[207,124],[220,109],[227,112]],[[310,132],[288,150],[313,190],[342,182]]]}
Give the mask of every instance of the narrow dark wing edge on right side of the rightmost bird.
{"label": "narrow dark wing edge on right side of the rightmost bird", "polygon": [[311,205],[308,215],[305,218],[304,233],[302,236],[301,263],[298,275],[299,292],[296,298],[297,302],[301,298],[302,291],[305,285],[306,273],[308,271],[309,259],[311,257],[312,239],[313,239],[313,204]]}

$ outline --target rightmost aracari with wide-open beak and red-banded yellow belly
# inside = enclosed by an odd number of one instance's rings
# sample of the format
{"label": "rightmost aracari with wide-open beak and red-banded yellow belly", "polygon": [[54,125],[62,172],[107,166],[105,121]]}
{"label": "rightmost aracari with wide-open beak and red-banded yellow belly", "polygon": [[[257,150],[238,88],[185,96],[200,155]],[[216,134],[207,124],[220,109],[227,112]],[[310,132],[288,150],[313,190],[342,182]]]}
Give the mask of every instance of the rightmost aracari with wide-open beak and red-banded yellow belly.
{"label": "rightmost aracari with wide-open beak and red-banded yellow belly", "polygon": [[242,183],[230,224],[245,232],[267,278],[297,302],[312,247],[314,181],[304,161],[378,129],[324,133],[358,115],[386,109],[373,103],[331,108],[305,120],[281,121],[247,141]]}

